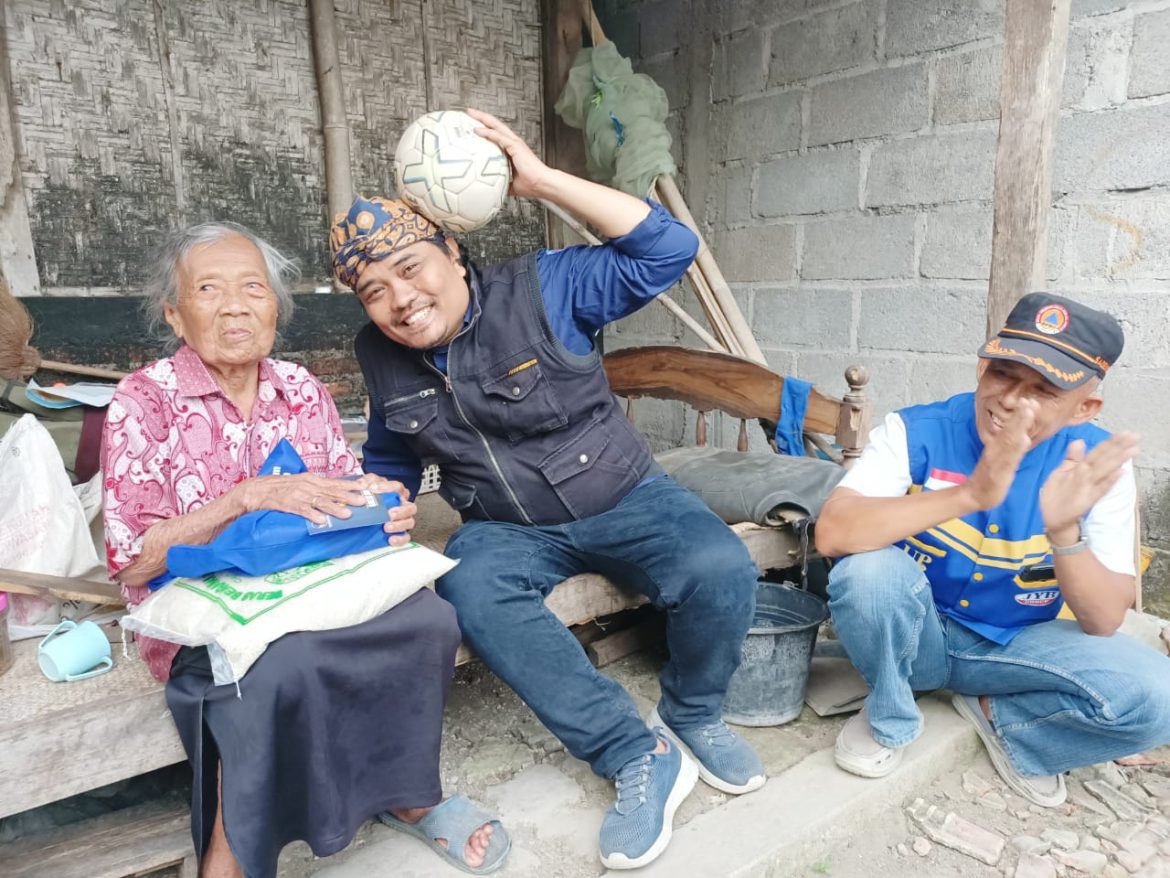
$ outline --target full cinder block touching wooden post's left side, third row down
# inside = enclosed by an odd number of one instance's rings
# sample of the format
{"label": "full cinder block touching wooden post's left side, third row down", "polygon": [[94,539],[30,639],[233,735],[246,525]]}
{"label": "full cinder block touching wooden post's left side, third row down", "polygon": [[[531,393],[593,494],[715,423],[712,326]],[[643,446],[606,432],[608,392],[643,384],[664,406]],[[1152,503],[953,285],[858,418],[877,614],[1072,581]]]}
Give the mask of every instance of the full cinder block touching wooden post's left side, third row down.
{"label": "full cinder block touching wooden post's left side, third row down", "polygon": [[865,204],[947,204],[990,200],[994,185],[996,132],[894,140],[874,150]]}

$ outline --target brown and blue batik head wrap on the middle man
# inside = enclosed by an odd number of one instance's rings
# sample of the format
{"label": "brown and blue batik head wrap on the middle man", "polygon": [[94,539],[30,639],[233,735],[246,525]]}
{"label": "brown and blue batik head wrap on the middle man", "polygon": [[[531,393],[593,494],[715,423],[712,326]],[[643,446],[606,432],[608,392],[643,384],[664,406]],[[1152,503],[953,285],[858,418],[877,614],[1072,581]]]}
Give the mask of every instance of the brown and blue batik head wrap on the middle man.
{"label": "brown and blue batik head wrap on the middle man", "polygon": [[358,196],[349,213],[333,218],[329,235],[333,273],[337,280],[355,289],[366,263],[427,240],[441,241],[442,231],[405,201]]}

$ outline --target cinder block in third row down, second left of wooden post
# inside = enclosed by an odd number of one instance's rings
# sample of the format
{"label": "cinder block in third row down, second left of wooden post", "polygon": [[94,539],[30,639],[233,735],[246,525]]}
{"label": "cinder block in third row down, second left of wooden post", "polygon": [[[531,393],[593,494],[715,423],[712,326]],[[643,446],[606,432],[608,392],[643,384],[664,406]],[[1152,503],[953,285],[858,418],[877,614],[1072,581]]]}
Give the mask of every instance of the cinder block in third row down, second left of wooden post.
{"label": "cinder block in third row down, second left of wooden post", "polygon": [[856,150],[818,150],[759,166],[756,208],[762,217],[793,217],[858,206]]}

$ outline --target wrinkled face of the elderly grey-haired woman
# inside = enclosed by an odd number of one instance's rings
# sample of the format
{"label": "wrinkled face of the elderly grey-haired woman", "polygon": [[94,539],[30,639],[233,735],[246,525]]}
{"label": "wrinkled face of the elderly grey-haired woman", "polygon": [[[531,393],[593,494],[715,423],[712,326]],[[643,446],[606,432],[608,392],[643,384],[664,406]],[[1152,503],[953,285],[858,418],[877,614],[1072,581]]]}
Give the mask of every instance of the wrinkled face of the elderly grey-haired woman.
{"label": "wrinkled face of the elderly grey-haired woman", "polygon": [[242,235],[193,248],[179,265],[166,322],[212,371],[259,363],[276,341],[276,294],[260,249]]}

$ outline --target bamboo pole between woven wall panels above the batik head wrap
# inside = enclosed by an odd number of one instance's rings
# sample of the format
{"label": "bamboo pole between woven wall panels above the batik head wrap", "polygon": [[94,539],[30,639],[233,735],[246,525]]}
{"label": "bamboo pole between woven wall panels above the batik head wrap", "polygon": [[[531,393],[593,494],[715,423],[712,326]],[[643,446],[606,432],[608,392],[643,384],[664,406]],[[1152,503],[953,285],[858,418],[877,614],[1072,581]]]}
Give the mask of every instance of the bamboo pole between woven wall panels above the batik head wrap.
{"label": "bamboo pole between woven wall panels above the batik head wrap", "polygon": [[[317,102],[325,139],[325,204],[329,225],[350,210],[353,172],[350,166],[350,124],[342,92],[342,62],[337,54],[337,22],[333,0],[310,0],[312,59],[317,71]],[[336,289],[342,289],[335,283]],[[347,291],[347,290],[346,290]]]}

